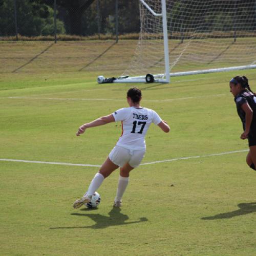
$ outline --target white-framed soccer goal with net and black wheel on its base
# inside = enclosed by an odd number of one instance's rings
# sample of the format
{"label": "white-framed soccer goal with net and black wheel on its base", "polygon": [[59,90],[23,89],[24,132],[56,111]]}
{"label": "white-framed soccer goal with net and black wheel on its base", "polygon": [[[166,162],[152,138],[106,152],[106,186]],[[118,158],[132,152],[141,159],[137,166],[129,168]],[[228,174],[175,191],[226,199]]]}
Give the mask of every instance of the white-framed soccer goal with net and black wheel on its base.
{"label": "white-framed soccer goal with net and black wheel on its base", "polygon": [[104,82],[170,82],[172,76],[256,68],[255,0],[138,0],[140,37],[120,77]]}

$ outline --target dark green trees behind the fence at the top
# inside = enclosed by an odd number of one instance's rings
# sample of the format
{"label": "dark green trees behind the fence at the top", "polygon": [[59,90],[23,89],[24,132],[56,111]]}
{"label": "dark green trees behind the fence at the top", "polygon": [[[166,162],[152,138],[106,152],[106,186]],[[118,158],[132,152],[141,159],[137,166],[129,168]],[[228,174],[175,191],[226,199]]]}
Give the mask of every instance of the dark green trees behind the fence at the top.
{"label": "dark green trees behind the fence at the top", "polygon": [[[115,2],[56,0],[57,33],[81,36],[98,31],[102,34],[114,33]],[[256,29],[254,0],[168,0],[168,5],[168,26],[174,32],[191,32],[196,28],[201,31]],[[15,34],[15,11],[19,34],[53,35],[53,8],[54,0],[0,0],[0,36]],[[140,31],[139,12],[138,0],[118,0],[120,34]]]}

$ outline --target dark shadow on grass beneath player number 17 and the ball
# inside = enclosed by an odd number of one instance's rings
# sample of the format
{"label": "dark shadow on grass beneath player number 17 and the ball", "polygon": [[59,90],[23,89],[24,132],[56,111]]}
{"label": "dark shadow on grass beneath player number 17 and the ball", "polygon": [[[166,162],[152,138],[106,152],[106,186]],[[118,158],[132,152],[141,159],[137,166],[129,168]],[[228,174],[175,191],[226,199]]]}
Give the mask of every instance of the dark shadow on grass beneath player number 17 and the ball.
{"label": "dark shadow on grass beneath player number 17 and the ball", "polygon": [[[91,211],[91,209],[85,209],[84,211]],[[93,228],[93,229],[100,229],[100,228],[107,228],[110,226],[120,226],[120,225],[127,225],[127,224],[135,224],[140,222],[147,221],[147,218],[142,217],[138,221],[130,221],[129,217],[125,214],[122,214],[120,208],[113,207],[112,210],[109,212],[108,216],[103,216],[100,214],[80,214],[80,213],[73,213],[73,216],[79,217],[89,217],[91,218],[95,224],[91,226],[81,226],[81,227],[51,227],[50,229],[72,229],[72,228]]]}

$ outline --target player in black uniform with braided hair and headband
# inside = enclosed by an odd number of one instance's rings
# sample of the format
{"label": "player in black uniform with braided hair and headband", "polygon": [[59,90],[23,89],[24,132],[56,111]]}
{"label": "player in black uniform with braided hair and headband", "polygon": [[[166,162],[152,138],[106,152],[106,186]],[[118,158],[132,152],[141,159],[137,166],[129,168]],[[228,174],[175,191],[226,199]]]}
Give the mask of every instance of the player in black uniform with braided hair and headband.
{"label": "player in black uniform with braided hair and headband", "polygon": [[249,153],[246,162],[255,170],[256,167],[256,95],[251,91],[245,76],[236,76],[229,82],[230,92],[237,104],[238,115],[243,123],[241,139],[248,139]]}

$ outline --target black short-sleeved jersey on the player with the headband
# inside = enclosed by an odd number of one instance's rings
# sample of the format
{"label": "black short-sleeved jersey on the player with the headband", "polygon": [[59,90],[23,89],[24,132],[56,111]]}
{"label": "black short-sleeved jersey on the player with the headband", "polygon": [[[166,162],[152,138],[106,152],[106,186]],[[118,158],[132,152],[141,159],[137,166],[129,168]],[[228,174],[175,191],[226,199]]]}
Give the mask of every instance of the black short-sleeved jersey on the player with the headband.
{"label": "black short-sleeved jersey on the player with the headband", "polygon": [[244,131],[245,131],[245,112],[242,110],[241,106],[244,103],[249,104],[249,106],[253,111],[253,118],[251,122],[250,133],[256,133],[256,96],[254,96],[253,93],[251,93],[250,91],[244,90],[234,98],[234,101],[237,104],[238,115],[241,118],[241,121],[243,123]]}

